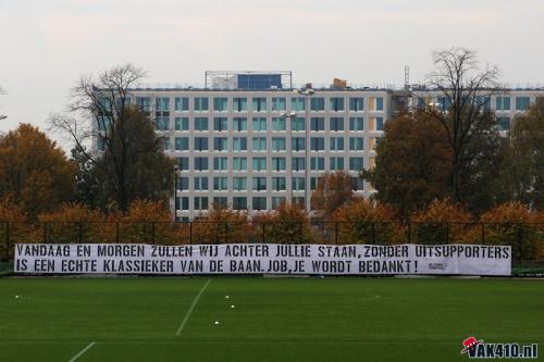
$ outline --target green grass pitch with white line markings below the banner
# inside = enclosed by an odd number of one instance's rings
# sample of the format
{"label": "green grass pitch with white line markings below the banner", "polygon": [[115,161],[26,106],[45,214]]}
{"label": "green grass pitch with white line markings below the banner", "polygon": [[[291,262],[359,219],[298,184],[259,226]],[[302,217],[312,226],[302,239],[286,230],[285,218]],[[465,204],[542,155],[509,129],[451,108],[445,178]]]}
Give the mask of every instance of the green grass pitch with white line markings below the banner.
{"label": "green grass pitch with white line markings below the banner", "polygon": [[206,282],[0,278],[0,361],[91,341],[77,361],[463,361],[470,335],[544,348],[544,280],[213,278],[176,336]]}

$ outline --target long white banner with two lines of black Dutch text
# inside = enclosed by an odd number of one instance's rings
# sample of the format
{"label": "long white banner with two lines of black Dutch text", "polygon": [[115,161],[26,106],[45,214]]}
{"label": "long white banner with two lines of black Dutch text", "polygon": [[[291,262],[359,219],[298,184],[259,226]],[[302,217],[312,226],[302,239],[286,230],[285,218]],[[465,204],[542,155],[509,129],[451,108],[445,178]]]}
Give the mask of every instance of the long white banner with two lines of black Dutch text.
{"label": "long white banner with two lines of black Dutch text", "polygon": [[509,246],[18,244],[15,272],[47,274],[510,275]]}

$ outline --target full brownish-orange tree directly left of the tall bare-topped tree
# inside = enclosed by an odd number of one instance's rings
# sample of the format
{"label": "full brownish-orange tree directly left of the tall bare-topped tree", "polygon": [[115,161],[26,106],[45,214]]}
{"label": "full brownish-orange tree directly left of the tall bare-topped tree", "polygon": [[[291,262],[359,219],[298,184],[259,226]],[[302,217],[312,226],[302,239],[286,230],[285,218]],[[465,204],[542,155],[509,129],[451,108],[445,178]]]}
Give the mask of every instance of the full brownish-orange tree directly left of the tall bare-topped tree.
{"label": "full brownish-orange tree directly left of the tall bare-topped tree", "polygon": [[375,151],[375,166],[361,171],[361,177],[378,190],[375,198],[395,205],[400,216],[449,194],[452,151],[442,126],[425,112],[387,122]]}

